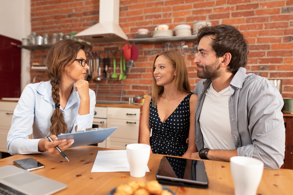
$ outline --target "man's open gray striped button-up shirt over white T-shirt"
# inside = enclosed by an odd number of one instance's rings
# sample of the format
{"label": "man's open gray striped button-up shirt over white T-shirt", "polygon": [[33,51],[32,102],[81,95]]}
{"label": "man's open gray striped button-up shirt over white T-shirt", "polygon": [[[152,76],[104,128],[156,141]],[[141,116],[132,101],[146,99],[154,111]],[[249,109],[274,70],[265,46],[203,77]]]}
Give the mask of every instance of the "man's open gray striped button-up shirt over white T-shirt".
{"label": "man's open gray striped button-up shirt over white T-shirt", "polygon": [[[211,82],[202,79],[193,90],[198,95],[195,111],[195,143],[198,150],[203,148],[199,117]],[[253,73],[246,74],[246,69],[242,67],[234,75],[229,89],[232,94],[229,97],[231,134],[238,156],[258,158],[264,162],[265,168],[280,168],[285,156],[282,95],[269,80]]]}

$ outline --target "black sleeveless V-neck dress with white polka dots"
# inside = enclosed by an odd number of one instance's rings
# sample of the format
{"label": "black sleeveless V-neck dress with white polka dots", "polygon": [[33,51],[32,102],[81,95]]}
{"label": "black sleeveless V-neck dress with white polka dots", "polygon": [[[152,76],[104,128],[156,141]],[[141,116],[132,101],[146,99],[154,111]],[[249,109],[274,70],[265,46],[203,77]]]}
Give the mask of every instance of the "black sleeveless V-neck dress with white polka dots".
{"label": "black sleeveless V-neck dress with white polka dots", "polygon": [[150,101],[149,124],[152,129],[150,145],[153,153],[183,156],[188,148],[186,139],[189,134],[189,99],[185,96],[175,111],[162,123],[157,108]]}

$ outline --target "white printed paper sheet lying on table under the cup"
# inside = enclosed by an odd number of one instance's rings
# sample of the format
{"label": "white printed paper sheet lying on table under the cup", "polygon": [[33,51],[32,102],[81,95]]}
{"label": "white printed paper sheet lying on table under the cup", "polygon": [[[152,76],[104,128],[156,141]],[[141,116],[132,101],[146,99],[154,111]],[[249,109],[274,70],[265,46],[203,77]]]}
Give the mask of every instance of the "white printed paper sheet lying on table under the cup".
{"label": "white printed paper sheet lying on table under the cup", "polygon": [[[98,151],[91,172],[130,172],[126,150]],[[149,172],[148,166],[146,172]]]}

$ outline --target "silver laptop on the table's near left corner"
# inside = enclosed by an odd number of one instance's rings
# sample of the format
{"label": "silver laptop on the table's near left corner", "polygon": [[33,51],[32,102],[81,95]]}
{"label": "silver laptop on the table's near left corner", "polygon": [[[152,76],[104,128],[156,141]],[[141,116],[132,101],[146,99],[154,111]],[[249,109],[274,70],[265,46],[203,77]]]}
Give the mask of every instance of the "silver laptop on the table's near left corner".
{"label": "silver laptop on the table's near left corner", "polygon": [[[66,188],[67,185],[13,165],[0,167],[0,194],[14,191],[15,194],[49,195]],[[10,189],[12,188],[12,189]],[[21,193],[18,193],[18,192]]]}

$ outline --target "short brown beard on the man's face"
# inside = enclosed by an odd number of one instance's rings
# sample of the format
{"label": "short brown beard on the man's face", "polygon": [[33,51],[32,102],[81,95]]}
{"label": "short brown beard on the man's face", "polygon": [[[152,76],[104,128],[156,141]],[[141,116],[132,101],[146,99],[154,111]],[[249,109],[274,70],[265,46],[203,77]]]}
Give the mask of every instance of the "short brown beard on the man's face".
{"label": "short brown beard on the man's face", "polygon": [[218,59],[216,59],[212,64],[205,66],[197,64],[197,66],[202,68],[200,71],[197,70],[197,77],[200,79],[215,80],[221,76],[220,63],[218,62]]}

